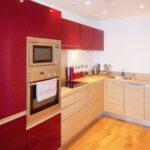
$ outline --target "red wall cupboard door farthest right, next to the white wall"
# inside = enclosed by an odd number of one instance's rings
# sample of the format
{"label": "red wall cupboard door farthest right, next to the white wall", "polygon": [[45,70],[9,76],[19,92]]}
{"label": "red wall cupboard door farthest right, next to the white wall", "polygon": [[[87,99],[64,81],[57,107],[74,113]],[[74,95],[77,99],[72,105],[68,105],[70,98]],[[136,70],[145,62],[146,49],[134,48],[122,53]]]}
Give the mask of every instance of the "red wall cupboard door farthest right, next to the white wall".
{"label": "red wall cupboard door farthest right, next to the white wall", "polygon": [[99,51],[104,50],[104,31],[94,29],[93,47],[94,50],[99,50]]}

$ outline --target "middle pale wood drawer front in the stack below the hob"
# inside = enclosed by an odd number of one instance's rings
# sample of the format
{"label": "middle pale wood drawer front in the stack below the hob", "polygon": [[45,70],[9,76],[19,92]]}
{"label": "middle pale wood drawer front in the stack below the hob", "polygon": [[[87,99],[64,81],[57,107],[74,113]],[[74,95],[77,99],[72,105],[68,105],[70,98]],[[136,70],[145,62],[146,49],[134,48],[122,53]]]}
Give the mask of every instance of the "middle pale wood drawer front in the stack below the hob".
{"label": "middle pale wood drawer front in the stack below the hob", "polygon": [[62,112],[62,120],[67,119],[68,117],[71,117],[75,113],[80,112],[82,109],[87,107],[90,104],[90,96],[85,97],[84,99],[80,100],[79,102],[64,108]]}

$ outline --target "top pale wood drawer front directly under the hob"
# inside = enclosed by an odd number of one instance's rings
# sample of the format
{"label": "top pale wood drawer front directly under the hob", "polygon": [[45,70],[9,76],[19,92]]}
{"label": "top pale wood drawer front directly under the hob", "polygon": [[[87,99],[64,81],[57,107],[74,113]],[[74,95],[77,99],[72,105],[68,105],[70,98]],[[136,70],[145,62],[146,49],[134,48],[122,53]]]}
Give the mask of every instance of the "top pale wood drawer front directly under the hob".
{"label": "top pale wood drawer front directly under the hob", "polygon": [[74,104],[78,101],[81,101],[83,99],[87,99],[87,97],[89,97],[88,93],[90,93],[90,90],[89,90],[89,88],[86,88],[84,90],[78,91],[75,94],[71,94],[70,96],[64,97],[61,100],[62,109],[71,105],[71,104]]}

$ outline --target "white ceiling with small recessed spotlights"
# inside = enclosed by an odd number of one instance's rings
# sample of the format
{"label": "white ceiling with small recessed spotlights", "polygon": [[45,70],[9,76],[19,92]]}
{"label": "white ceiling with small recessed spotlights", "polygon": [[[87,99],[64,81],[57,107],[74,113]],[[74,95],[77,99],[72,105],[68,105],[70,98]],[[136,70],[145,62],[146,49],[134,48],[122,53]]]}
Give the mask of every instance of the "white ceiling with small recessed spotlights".
{"label": "white ceiling with small recessed spotlights", "polygon": [[[86,5],[87,0],[40,1],[70,11],[81,17],[95,20],[150,14],[150,0],[90,0],[90,5]],[[144,5],[144,8],[140,8],[141,5]]]}

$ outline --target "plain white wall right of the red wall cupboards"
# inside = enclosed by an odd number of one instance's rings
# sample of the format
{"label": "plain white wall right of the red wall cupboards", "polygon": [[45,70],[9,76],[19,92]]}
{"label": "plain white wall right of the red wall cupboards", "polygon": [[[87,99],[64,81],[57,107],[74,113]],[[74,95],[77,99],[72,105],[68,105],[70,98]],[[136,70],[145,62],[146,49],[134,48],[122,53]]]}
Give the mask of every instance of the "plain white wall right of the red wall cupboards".
{"label": "plain white wall right of the red wall cupboards", "polygon": [[150,16],[107,20],[99,26],[105,31],[105,51],[93,53],[93,64],[150,73]]}

